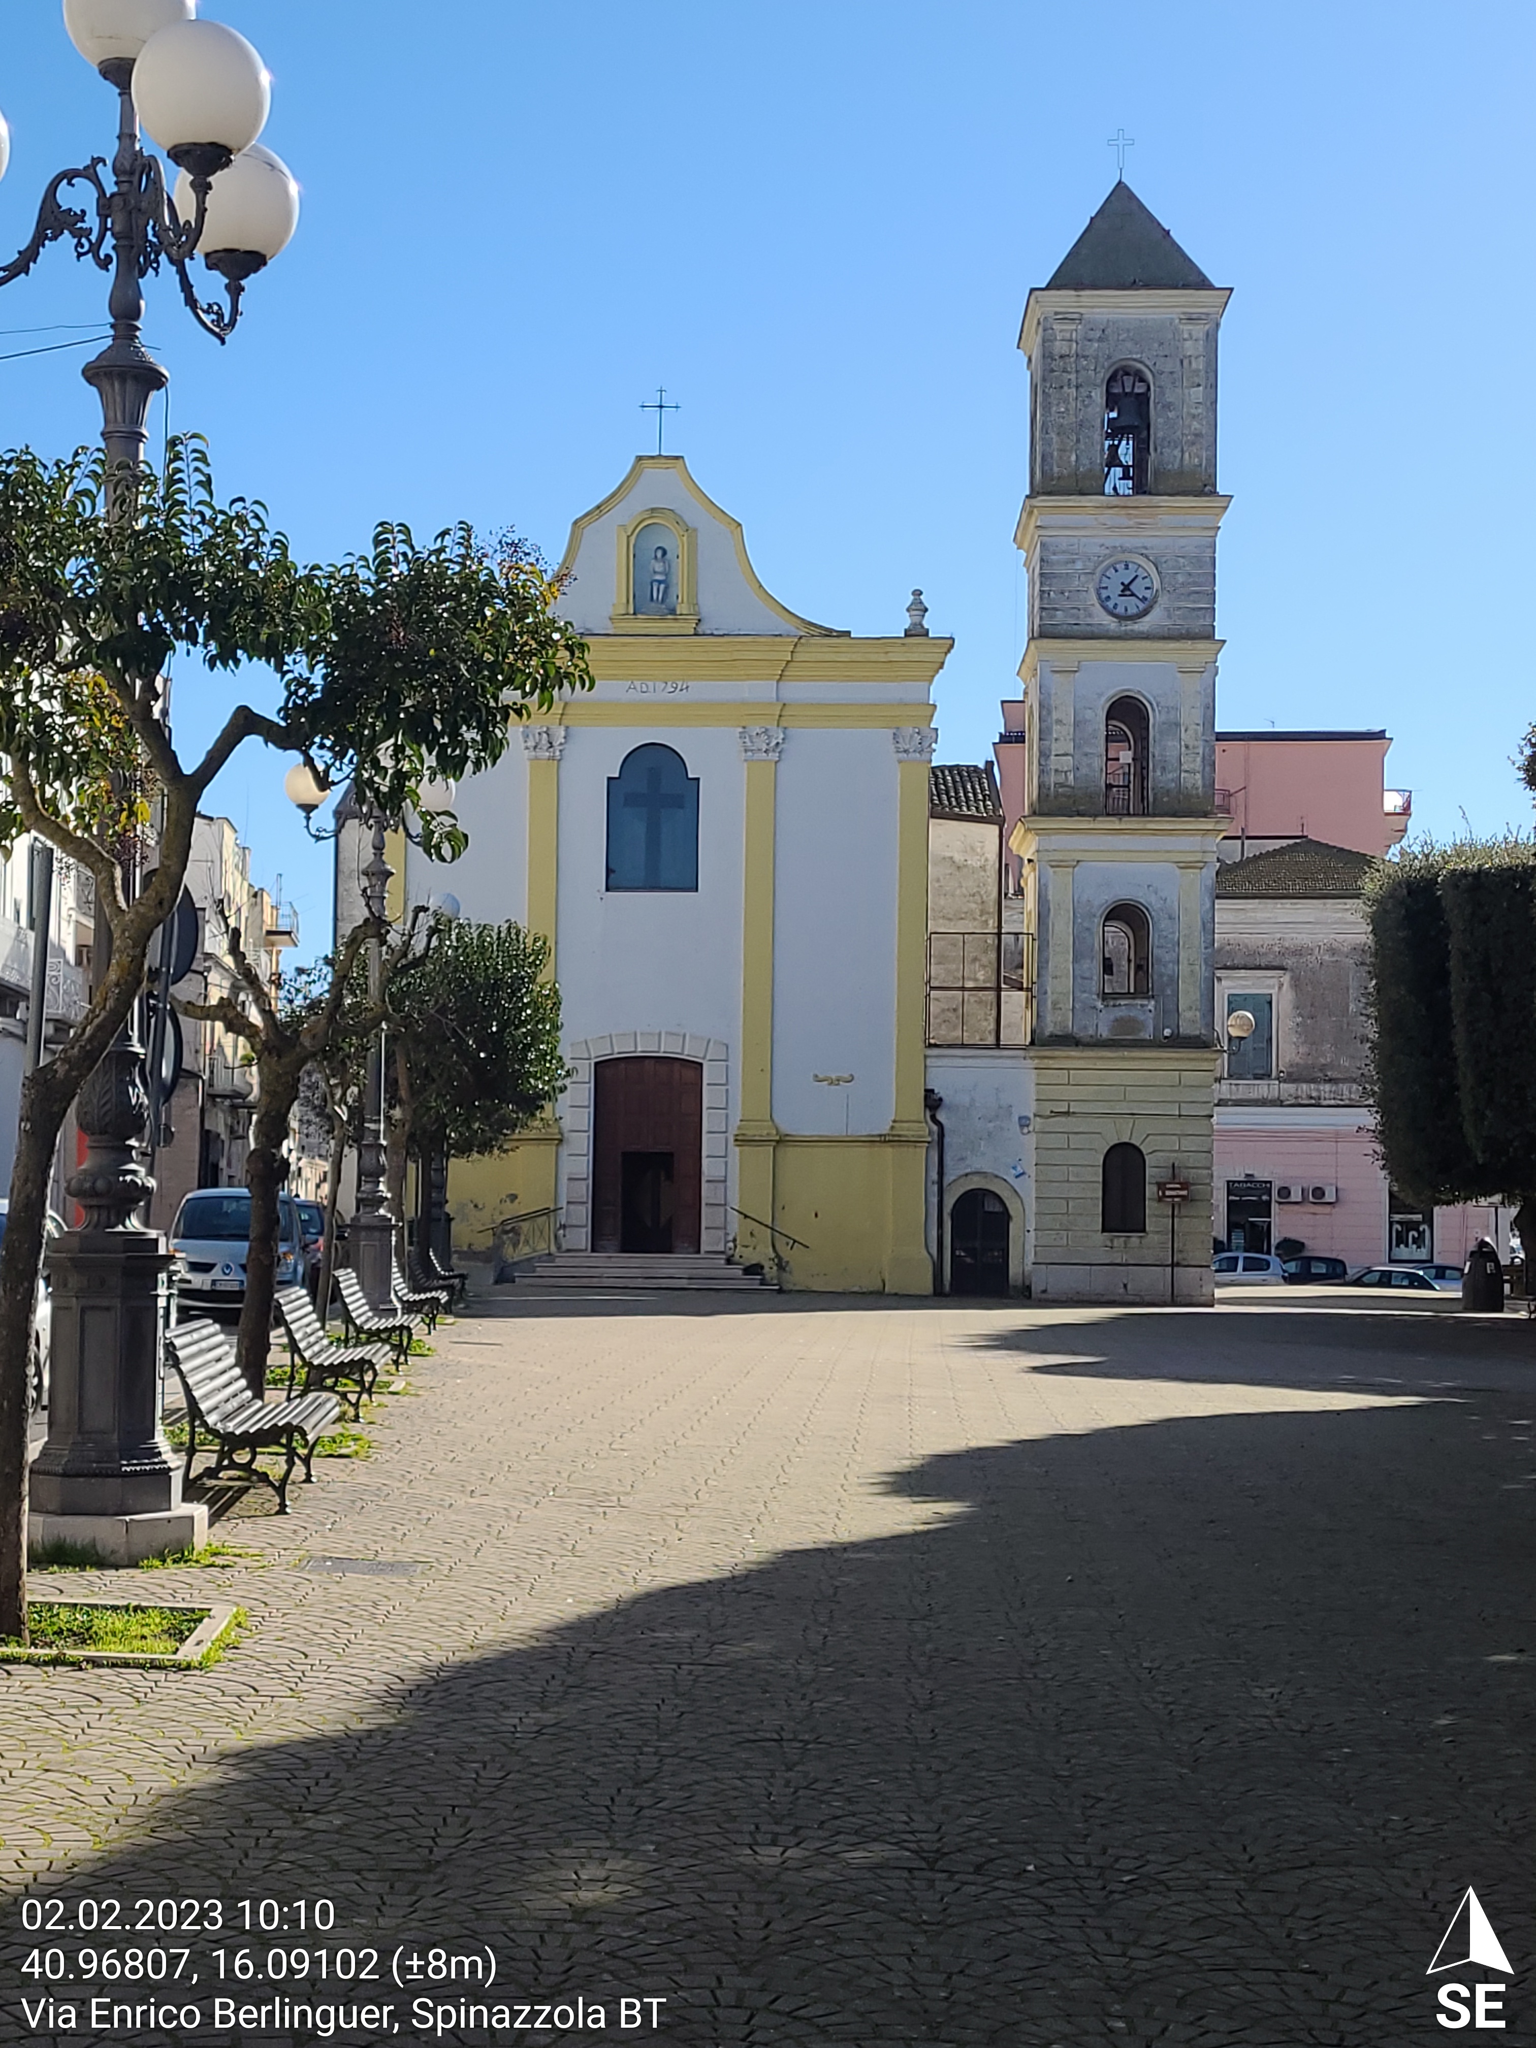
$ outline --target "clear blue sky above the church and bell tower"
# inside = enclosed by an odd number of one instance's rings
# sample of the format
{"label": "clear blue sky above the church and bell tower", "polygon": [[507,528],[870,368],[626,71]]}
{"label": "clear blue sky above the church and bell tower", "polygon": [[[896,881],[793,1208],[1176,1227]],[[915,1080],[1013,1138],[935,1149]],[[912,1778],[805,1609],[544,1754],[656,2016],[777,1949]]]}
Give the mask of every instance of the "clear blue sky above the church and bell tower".
{"label": "clear blue sky above the church and bell tower", "polygon": [[[1126,176],[1221,285],[1223,725],[1384,725],[1415,821],[1528,825],[1536,717],[1528,0],[205,0],[274,74],[297,242],[229,348],[152,283],[172,420],[305,555],[569,520],[668,446],[786,604],[891,633],[922,584],[956,649],[940,758],[1014,690],[1020,311]],[[393,31],[393,33],[391,33]],[[53,0],[12,4],[6,250],[43,180],[111,152]],[[0,328],[90,322],[53,250]],[[68,340],[8,334],[0,352]],[[82,352],[0,362],[0,438],[96,432]],[[651,440],[653,444],[653,440]],[[211,729],[201,678],[178,737]],[[330,918],[328,860],[248,750],[219,803],[258,879]]]}

